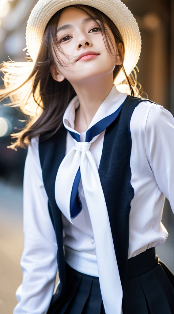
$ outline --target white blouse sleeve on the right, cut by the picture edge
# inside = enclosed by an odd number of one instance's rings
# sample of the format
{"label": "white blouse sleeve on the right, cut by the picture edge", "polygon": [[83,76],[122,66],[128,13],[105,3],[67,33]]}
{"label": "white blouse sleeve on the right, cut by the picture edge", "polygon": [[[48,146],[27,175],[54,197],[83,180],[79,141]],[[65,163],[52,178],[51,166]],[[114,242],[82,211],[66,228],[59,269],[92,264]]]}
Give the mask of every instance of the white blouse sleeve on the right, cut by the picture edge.
{"label": "white blouse sleeve on the right, cut by the picture edge", "polygon": [[145,128],[145,150],[157,185],[174,213],[174,118],[163,106],[150,108]]}

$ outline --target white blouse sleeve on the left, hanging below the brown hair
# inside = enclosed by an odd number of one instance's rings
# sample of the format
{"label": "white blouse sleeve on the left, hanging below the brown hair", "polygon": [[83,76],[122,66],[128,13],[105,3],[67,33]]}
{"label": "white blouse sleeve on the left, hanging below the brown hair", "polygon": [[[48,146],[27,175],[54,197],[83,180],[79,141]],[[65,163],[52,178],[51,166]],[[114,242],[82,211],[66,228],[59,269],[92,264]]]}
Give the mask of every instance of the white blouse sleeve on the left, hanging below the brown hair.
{"label": "white blouse sleeve on the left, hanging below the brown hair", "polygon": [[23,281],[16,291],[19,303],[13,314],[45,314],[55,285],[57,243],[42,180],[38,139],[32,138],[24,167]]}

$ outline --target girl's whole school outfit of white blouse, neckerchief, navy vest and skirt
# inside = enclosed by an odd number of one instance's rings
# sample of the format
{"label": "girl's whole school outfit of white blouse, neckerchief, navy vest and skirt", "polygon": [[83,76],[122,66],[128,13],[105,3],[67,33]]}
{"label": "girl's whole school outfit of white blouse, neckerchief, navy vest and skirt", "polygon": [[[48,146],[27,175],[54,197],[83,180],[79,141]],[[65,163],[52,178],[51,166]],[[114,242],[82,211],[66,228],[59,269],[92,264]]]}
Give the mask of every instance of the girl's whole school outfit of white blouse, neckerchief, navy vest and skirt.
{"label": "girl's whole school outfit of white blouse, neckerchief, navy vest and skirt", "polygon": [[61,129],[28,148],[13,313],[174,313],[174,275],[155,253],[165,196],[174,211],[173,116],[113,85],[78,133],[78,106],[75,96]]}

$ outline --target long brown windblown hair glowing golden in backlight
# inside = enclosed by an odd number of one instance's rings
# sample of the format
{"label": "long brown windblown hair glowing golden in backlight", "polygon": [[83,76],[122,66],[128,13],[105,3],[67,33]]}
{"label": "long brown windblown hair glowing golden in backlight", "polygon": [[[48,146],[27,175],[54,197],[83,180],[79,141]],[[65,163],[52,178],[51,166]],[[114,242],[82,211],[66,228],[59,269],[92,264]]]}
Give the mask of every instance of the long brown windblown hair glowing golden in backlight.
{"label": "long brown windblown hair glowing golden in backlight", "polygon": [[[122,64],[115,66],[113,77],[115,79],[122,69],[130,88],[130,94],[134,95],[134,91],[136,91],[136,95],[140,95],[133,77],[128,77],[124,70],[124,42],[116,25],[96,8],[84,5],[72,5],[71,7],[84,11],[100,26],[105,46],[114,58],[114,45],[120,44],[118,50]],[[12,138],[17,138],[17,140],[8,148],[15,150],[17,147],[26,148],[31,138],[40,134],[42,134],[42,140],[51,137],[62,126],[66,107],[76,95],[66,78],[62,82],[57,82],[50,73],[52,65],[62,65],[56,53],[56,49],[61,49],[58,45],[56,30],[63,10],[56,12],[48,22],[36,62],[31,57],[25,57],[27,62],[6,61],[0,65],[5,85],[5,89],[0,89],[0,100],[9,97],[12,101],[10,105],[19,106],[21,111],[28,116],[28,118],[26,117],[26,126],[20,132],[11,134]],[[113,33],[114,44],[105,24]],[[31,108],[35,109],[32,111]]]}

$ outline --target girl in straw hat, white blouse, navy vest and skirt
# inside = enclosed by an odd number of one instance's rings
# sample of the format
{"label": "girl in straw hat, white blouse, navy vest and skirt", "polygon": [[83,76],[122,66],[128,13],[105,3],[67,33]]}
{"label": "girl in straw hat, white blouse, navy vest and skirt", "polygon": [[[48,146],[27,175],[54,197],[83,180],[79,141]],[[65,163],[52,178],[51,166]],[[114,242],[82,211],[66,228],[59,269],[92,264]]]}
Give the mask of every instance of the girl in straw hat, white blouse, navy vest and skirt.
{"label": "girl in straw hat, white blouse, navy vest and skirt", "polygon": [[120,0],[39,0],[26,41],[28,62],[1,68],[2,98],[31,116],[9,146],[28,145],[13,313],[174,313],[174,275],[155,252],[165,196],[174,210],[174,119],[135,97],[133,15]]}

